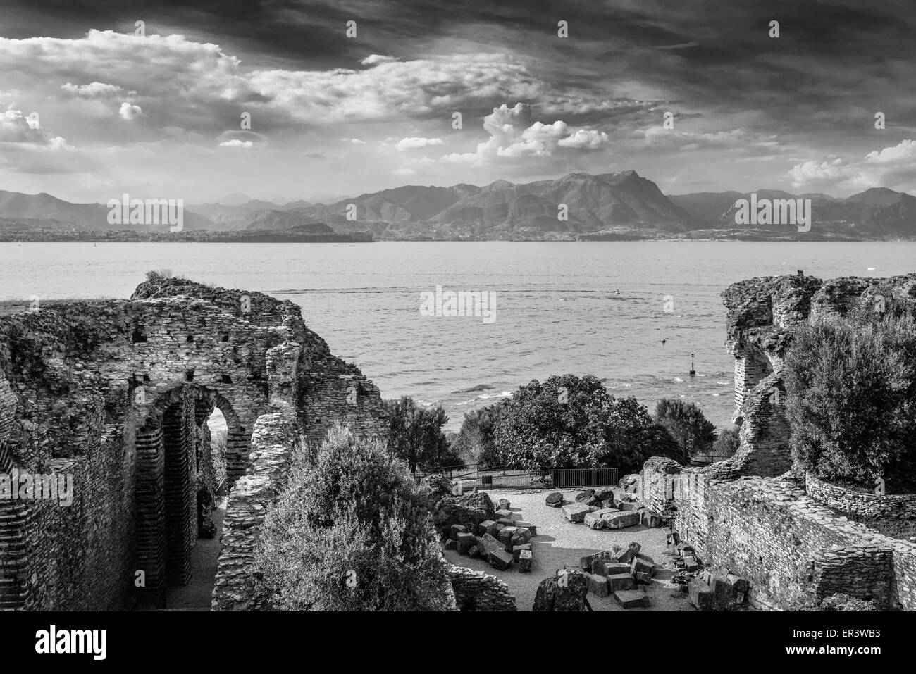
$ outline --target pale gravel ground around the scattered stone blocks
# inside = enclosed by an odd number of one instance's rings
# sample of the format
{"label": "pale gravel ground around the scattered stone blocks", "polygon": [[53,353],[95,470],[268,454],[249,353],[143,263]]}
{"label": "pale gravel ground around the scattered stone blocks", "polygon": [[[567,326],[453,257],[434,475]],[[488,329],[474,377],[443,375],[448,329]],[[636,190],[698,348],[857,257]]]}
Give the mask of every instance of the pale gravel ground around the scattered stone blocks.
{"label": "pale gravel ground around the scattered stone blocks", "polygon": [[[562,490],[567,501],[573,501],[580,489]],[[506,582],[509,591],[515,595],[519,611],[530,611],[538,585],[564,566],[578,569],[579,558],[593,552],[610,549],[616,543],[624,548],[630,541],[636,541],[652,560],[664,569],[674,570],[671,557],[667,554],[665,535],[660,528],[643,526],[625,529],[590,529],[583,524],[573,524],[563,517],[561,508],[544,504],[544,497],[550,490],[491,490],[487,494],[494,503],[505,498],[511,504],[513,517],[530,522],[538,528],[538,536],[531,538],[534,563],[530,573],[519,573],[518,564],[512,564],[508,571],[496,571],[484,560],[472,560],[459,555],[455,550],[444,550],[445,558],[457,566],[475,571],[485,571]],[[474,532],[476,533],[476,532]],[[653,580],[647,588],[649,608],[621,608],[614,596],[596,597],[589,593],[588,603],[594,611],[695,611],[687,595],[678,591],[671,582]]]}

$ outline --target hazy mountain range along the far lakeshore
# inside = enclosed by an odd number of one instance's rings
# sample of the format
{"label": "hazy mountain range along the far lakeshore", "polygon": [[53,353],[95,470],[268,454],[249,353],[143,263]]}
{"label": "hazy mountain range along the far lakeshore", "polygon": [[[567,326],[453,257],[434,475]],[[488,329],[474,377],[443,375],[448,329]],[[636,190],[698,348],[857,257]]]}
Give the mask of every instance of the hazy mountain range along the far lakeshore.
{"label": "hazy mountain range along the far lakeshore", "polygon": [[[359,232],[376,239],[916,237],[916,198],[904,192],[872,188],[845,199],[780,190],[756,193],[758,200],[810,199],[812,233],[797,234],[786,224],[737,225],[736,201],[750,199],[749,193],[665,195],[632,170],[570,173],[524,184],[496,180],[483,187],[406,185],[330,203],[278,203],[233,194],[187,205],[184,226],[239,233]],[[0,190],[0,231],[124,229],[108,224],[107,213],[101,203]]]}

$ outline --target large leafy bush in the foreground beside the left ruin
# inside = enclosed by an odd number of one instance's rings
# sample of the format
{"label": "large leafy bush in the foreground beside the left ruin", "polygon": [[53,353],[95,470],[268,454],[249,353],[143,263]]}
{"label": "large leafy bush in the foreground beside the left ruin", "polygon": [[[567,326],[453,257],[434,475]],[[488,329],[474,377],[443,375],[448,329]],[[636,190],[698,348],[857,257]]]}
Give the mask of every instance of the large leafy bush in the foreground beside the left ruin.
{"label": "large leafy bush in the foreground beside the left ruin", "polygon": [[287,611],[449,610],[430,494],[381,443],[335,427],[296,452],[256,552],[261,591]]}

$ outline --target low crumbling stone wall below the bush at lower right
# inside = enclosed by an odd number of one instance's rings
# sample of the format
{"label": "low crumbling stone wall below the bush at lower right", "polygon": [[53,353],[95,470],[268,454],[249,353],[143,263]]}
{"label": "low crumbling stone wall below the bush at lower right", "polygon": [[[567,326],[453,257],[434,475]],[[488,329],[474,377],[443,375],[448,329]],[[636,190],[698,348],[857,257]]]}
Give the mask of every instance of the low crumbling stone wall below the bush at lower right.
{"label": "low crumbling stone wall below the bush at lower right", "polygon": [[673,515],[708,568],[746,577],[758,607],[845,592],[916,610],[916,545],[847,521],[790,480],[655,457],[640,473],[638,496]]}

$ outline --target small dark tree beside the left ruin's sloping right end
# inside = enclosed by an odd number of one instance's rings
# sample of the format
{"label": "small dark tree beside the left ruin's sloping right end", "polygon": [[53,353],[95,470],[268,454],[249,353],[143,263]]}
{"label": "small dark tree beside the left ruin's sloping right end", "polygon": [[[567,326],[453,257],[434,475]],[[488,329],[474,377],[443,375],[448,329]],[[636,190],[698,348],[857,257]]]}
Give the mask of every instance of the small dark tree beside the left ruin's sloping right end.
{"label": "small dark tree beside the left ruin's sloping right end", "polygon": [[407,462],[410,473],[416,473],[418,466],[433,471],[462,463],[442,432],[449,418],[441,405],[421,408],[412,397],[404,396],[386,400],[385,408],[389,419],[388,450]]}

